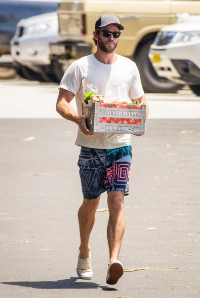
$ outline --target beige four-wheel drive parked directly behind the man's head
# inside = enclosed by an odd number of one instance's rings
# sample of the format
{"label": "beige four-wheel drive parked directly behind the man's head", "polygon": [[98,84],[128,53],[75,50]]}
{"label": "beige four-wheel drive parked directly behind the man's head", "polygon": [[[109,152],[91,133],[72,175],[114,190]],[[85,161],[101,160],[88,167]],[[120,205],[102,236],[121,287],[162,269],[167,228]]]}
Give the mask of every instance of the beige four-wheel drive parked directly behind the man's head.
{"label": "beige four-wheel drive parked directly behind the man's head", "polygon": [[148,58],[150,45],[162,27],[180,14],[200,15],[200,1],[170,0],[63,0],[58,8],[59,40],[51,44],[51,60],[61,80],[74,59],[95,52],[93,30],[102,14],[115,14],[125,27],[116,53],[134,60],[145,92],[174,93],[182,88],[155,73]]}

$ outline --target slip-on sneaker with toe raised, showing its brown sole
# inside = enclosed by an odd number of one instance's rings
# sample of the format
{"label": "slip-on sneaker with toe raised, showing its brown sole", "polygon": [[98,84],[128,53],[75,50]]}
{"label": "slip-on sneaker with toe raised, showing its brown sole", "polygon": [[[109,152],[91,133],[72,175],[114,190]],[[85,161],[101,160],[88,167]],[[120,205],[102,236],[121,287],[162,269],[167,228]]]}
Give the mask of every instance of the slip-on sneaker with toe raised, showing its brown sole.
{"label": "slip-on sneaker with toe raised, showing its brown sole", "polygon": [[106,277],[107,284],[116,284],[118,279],[124,274],[124,267],[119,260],[113,260],[109,267]]}

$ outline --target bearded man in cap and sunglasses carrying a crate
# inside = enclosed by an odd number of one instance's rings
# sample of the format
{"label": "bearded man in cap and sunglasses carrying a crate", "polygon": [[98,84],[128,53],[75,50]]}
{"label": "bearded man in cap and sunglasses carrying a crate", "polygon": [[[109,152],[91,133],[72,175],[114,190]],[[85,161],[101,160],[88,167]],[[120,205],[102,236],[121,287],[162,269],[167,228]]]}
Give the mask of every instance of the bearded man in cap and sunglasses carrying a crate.
{"label": "bearded man in cap and sunglasses carrying a crate", "polygon": [[[81,279],[91,279],[91,254],[89,238],[95,222],[100,195],[107,192],[109,220],[107,240],[109,263],[106,282],[116,284],[124,273],[118,260],[125,232],[124,196],[129,192],[131,169],[131,135],[92,133],[86,126],[87,116],[82,116],[82,102],[89,82],[95,82],[97,94],[110,94],[114,90],[117,97],[138,100],[147,107],[140,82],[138,69],[133,61],[115,53],[120,30],[123,25],[114,15],[103,15],[95,24],[93,41],[97,46],[95,54],[74,61],[66,70],[59,87],[58,113],[78,125],[75,144],[81,146],[78,166],[84,195],[78,210],[81,244],[78,252],[77,275]],[[123,86],[122,89],[117,88]],[[75,96],[77,112],[70,106]],[[126,165],[128,171],[119,183],[119,169]]]}

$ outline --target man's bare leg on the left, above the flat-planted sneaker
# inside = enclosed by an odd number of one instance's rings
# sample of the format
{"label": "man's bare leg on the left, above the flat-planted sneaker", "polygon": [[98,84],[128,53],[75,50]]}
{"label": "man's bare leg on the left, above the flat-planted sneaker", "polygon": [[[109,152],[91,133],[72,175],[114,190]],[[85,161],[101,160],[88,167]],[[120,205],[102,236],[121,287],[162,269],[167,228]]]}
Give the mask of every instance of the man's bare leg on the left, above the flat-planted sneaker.
{"label": "man's bare leg on the left, above the flat-planted sneaker", "polygon": [[95,222],[95,212],[99,205],[99,199],[88,200],[84,198],[83,204],[78,210],[78,222],[79,222],[79,231],[81,238],[80,258],[89,258],[89,239],[92,228]]}

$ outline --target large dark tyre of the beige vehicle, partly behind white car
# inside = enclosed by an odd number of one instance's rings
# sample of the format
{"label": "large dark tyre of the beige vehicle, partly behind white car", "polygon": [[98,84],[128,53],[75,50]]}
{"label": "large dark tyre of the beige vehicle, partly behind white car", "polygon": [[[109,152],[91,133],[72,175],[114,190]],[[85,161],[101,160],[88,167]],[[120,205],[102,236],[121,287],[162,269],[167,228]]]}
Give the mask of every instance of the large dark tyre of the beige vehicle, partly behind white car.
{"label": "large dark tyre of the beige vehicle, partly behind white car", "polygon": [[137,51],[134,58],[140,72],[143,89],[145,92],[152,93],[176,93],[183,85],[158,77],[149,60],[148,52],[152,43],[152,39],[144,43]]}

